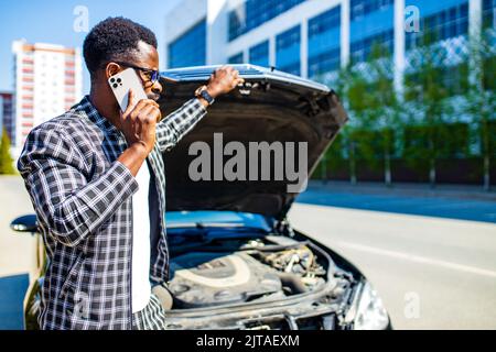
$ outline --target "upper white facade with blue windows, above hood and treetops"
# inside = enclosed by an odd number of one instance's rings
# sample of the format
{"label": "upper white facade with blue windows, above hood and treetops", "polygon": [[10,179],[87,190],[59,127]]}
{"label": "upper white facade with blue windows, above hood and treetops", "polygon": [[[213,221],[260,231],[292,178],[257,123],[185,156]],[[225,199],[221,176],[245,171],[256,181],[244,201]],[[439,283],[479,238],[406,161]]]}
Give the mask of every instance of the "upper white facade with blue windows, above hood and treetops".
{"label": "upper white facade with blue windows, above hood and treetops", "polygon": [[168,68],[251,63],[321,80],[367,59],[373,44],[392,56],[401,86],[418,15],[456,54],[462,37],[495,26],[495,0],[184,0],[165,18]]}

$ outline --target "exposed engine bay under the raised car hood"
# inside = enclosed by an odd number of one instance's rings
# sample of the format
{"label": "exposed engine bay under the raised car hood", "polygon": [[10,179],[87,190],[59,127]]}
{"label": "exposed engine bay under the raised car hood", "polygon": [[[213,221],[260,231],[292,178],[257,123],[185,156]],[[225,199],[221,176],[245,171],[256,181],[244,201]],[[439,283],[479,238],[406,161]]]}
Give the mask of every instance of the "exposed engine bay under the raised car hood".
{"label": "exposed engine bay under the raised car hood", "polygon": [[[190,241],[184,241],[185,243]],[[306,242],[269,234],[183,243],[171,258],[173,309],[269,301],[304,294],[327,282],[331,258]]]}

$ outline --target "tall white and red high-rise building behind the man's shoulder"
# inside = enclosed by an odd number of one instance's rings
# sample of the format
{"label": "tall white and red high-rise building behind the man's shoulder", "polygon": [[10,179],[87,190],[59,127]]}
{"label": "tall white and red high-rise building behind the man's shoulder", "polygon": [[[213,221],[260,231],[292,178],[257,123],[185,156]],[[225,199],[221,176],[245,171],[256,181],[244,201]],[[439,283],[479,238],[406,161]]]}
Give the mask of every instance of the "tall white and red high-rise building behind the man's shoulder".
{"label": "tall white and red high-rise building behind the man's shoulder", "polygon": [[14,54],[13,156],[17,158],[30,131],[68,110],[82,98],[79,48],[53,44],[12,43]]}

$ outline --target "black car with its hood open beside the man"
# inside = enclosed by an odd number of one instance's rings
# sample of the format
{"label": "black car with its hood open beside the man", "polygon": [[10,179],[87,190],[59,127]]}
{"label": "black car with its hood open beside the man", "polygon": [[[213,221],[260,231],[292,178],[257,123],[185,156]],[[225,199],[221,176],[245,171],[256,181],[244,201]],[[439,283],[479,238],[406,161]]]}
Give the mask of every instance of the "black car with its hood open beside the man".
{"label": "black car with its hood open beside the man", "polygon": [[[164,216],[171,249],[168,287],[173,296],[168,328],[390,329],[381,299],[365,276],[313,240],[312,234],[308,237],[289,223],[287,213],[299,194],[292,187],[295,178],[273,177],[276,166],[282,165],[277,164],[282,161],[276,160],[274,145],[304,145],[306,164],[299,165],[305,166],[306,182],[347,121],[336,94],[326,86],[274,69],[234,66],[245,84],[218,98],[207,117],[164,153]],[[162,73],[168,78],[160,100],[162,114],[190,99],[214,68]],[[234,147],[230,153],[218,150],[229,142],[236,143],[230,145],[237,147],[236,156],[240,157],[237,169],[230,169],[236,174],[234,178],[215,175],[215,169],[226,167],[235,156]],[[192,145],[196,145],[193,151]],[[271,164],[266,164],[272,177],[252,177],[260,176],[263,161],[248,161],[248,152],[239,155],[240,150],[252,151],[254,145],[273,153]],[[195,168],[201,147],[222,153],[220,158],[208,161],[211,169],[208,165],[203,165],[207,170]],[[285,154],[284,161],[296,165],[301,153]],[[254,167],[257,173],[250,174],[248,169]],[[196,172],[194,177],[192,169]],[[304,189],[304,184],[299,187]],[[12,228],[36,232],[35,216],[14,220]],[[26,329],[37,328],[39,289],[46,266],[42,241],[39,243],[40,278],[26,293]]]}

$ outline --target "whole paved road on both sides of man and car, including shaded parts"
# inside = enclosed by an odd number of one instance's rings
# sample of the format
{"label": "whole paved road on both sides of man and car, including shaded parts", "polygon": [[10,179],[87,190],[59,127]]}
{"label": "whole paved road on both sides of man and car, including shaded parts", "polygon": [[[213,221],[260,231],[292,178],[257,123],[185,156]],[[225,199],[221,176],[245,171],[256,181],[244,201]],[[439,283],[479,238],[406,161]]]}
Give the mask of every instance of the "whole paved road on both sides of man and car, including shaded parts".
{"label": "whole paved road on both sides of man and car, including shaded parts", "polygon": [[[410,213],[418,211],[419,205],[433,205],[422,197],[408,198],[356,193],[339,198],[310,189],[300,200],[313,204],[295,204],[290,220],[364,272],[381,295],[396,328],[496,329],[496,224],[489,221],[494,202],[477,202],[483,216],[476,219],[485,222],[435,218],[425,208],[423,215],[429,217],[385,211],[398,211],[401,202],[401,209]],[[451,206],[453,211],[445,213],[462,219],[463,209],[470,217],[477,213],[472,200],[436,204],[444,209]],[[20,177],[0,177],[0,284],[17,283],[19,287],[10,292],[19,296],[25,280],[12,275],[29,272],[34,257],[32,239],[13,234],[8,227],[15,216],[32,212]],[[353,209],[365,206],[375,211]],[[21,309],[19,297],[9,298]],[[8,315],[12,317],[12,309]]]}

